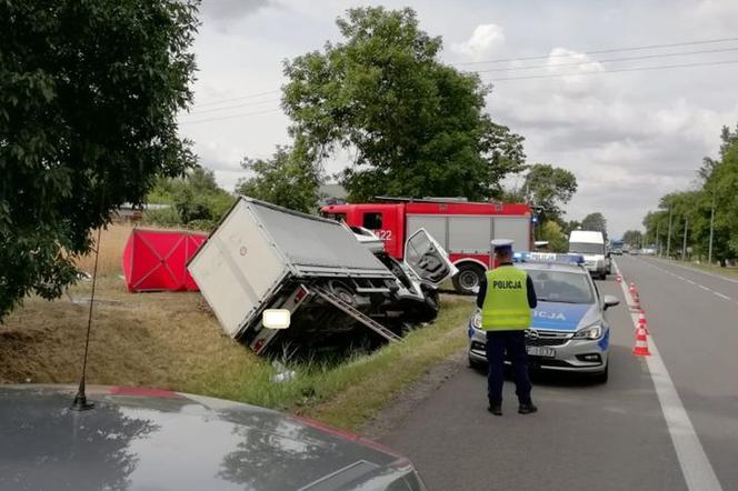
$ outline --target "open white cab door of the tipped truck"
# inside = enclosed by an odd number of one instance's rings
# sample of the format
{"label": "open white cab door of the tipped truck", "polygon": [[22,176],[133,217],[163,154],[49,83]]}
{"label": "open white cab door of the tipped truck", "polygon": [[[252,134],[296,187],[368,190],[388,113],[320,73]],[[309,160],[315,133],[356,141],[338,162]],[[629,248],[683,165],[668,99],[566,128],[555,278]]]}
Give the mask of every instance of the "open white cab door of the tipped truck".
{"label": "open white cab door of the tipped truck", "polygon": [[423,280],[436,287],[459,270],[448,259],[443,248],[426,229],[420,229],[405,242],[405,263]]}

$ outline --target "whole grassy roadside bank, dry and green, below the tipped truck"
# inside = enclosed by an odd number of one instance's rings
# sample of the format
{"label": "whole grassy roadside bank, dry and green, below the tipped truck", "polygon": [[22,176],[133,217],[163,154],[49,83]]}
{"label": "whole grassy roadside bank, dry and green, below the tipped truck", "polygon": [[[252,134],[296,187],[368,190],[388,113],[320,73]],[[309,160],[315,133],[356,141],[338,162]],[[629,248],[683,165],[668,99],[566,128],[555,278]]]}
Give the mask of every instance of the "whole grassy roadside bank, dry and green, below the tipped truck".
{"label": "whole grassy roadside bank, dry and green, below the tipped truck", "polygon": [[[222,333],[199,293],[128,293],[120,254],[129,233],[114,226],[102,236],[88,383],[215,395],[357,429],[466,343],[462,325],[471,305],[445,299],[437,321],[403,343],[338,364],[289,367],[297,377],[277,383],[267,360]],[[80,267],[91,272],[91,258]],[[80,282],[54,302],[27,299],[0,324],[0,382],[77,382],[90,287]]]}

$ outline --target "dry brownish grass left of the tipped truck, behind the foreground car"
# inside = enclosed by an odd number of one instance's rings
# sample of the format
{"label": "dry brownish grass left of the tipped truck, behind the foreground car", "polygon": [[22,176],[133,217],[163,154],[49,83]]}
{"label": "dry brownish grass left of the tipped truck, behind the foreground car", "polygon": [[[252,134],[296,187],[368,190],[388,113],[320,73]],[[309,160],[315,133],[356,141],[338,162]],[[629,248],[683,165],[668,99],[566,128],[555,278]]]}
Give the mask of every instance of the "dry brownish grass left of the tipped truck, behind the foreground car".
{"label": "dry brownish grass left of the tipped truck, behind the foreground car", "polygon": [[[89,282],[72,289],[76,302],[28,299],[0,325],[0,382],[66,383],[79,378],[89,289]],[[188,391],[210,373],[227,375],[235,365],[262,364],[222,334],[200,294],[129,294],[122,280],[99,279],[90,383]]]}

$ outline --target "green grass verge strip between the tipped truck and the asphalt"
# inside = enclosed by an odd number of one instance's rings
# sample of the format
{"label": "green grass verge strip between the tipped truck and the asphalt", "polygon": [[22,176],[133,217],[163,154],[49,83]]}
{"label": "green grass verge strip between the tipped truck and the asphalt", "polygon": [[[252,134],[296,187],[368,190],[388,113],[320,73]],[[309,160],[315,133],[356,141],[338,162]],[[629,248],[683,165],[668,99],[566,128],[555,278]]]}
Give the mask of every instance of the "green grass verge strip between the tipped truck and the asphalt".
{"label": "green grass verge strip between the tipped truck and the asphalt", "polygon": [[446,300],[436,322],[409,333],[402,343],[339,364],[297,364],[296,377],[273,382],[269,364],[207,373],[186,389],[315,418],[356,430],[405,388],[466,344],[463,325],[471,304]]}

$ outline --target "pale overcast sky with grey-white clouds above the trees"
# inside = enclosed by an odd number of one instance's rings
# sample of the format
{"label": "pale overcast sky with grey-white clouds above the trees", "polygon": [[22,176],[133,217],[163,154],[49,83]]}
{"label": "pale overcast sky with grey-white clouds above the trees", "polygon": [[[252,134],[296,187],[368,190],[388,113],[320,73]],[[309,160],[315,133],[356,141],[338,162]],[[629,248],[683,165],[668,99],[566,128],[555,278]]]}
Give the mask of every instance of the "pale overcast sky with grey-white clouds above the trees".
{"label": "pale overcast sky with grey-white clouds above the trees", "polygon": [[[180,123],[222,187],[243,177],[245,156],[289,142],[282,60],[338,40],[336,17],[365,4],[412,7],[421,28],[443,38],[443,61],[460,69],[515,68],[481,73],[493,83],[492,119],[526,138],[529,163],[571,170],[579,191],[567,218],[600,211],[612,237],[639,227],[661,194],[694,183],[702,157],[717,153],[720,127],[738,121],[738,0],[203,0],[196,103]],[[726,38],[736,40],[587,54]],[[695,51],[711,52],[664,57]],[[518,61],[469,64],[499,59]],[[728,63],[612,72],[714,62]],[[555,73],[567,76],[519,79]],[[338,156],[327,170],[343,166]]]}

